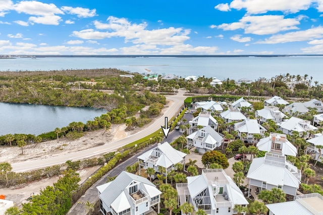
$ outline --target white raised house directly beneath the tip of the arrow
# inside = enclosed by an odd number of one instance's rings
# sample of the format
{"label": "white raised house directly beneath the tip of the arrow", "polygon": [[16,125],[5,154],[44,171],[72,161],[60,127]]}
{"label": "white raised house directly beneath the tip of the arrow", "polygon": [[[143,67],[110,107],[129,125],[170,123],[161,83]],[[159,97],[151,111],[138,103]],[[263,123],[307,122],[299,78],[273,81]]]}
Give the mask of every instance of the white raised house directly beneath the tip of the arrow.
{"label": "white raised house directly beneath the tip of the arrow", "polygon": [[[186,153],[176,150],[168,142],[158,143],[155,148],[138,156],[139,175],[141,168],[147,169],[150,167],[156,171],[156,174],[164,174],[167,177],[167,173],[176,170],[176,164],[185,165],[185,157]],[[166,172],[160,173],[158,167],[164,167]],[[155,175],[151,178],[155,178]]]}

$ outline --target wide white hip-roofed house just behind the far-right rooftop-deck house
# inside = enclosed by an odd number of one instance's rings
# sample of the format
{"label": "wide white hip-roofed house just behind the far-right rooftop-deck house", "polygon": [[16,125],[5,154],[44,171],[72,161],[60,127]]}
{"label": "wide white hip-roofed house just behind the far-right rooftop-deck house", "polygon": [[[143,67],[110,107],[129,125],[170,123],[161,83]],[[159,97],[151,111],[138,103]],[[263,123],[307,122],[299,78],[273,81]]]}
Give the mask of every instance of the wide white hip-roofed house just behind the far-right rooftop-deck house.
{"label": "wide white hip-roofed house just behind the far-right rooftop-deck house", "polygon": [[308,137],[309,131],[317,131],[317,128],[312,126],[310,121],[302,120],[297,117],[291,117],[276,125],[278,125],[278,129],[284,134],[292,135],[293,131],[297,131],[301,137]]}

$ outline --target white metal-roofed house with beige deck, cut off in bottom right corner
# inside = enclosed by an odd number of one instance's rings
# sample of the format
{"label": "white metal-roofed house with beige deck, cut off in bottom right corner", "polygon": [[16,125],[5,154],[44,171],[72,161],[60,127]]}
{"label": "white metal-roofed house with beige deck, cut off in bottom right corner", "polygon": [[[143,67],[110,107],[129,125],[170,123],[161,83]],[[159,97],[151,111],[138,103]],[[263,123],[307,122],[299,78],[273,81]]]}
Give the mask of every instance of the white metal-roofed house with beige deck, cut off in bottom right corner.
{"label": "white metal-roofed house with beige deck, cut off in bottom right corner", "polygon": [[269,215],[317,215],[323,214],[323,196],[309,193],[296,196],[295,201],[266,204]]}

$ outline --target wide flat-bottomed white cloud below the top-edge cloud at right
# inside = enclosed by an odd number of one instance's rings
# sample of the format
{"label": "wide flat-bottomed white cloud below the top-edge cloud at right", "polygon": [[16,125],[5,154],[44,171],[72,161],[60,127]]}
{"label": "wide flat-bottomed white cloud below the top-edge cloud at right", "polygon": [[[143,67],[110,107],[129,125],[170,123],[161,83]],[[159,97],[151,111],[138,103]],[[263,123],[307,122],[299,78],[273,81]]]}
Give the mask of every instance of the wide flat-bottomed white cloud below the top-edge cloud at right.
{"label": "wide flat-bottomed white cloud below the top-edge cloud at right", "polygon": [[284,19],[284,16],[264,15],[264,16],[245,16],[239,22],[221,24],[217,26],[223,30],[244,29],[245,33],[265,35],[274,34],[280,31],[298,29],[296,25],[300,22],[297,19]]}

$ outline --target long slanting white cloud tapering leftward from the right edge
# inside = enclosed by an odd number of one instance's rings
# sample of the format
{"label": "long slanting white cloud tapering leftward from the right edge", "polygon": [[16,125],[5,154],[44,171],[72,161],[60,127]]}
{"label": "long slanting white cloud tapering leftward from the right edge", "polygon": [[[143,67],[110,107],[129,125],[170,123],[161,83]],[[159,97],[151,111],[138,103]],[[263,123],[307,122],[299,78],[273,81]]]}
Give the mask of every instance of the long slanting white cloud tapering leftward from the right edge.
{"label": "long slanting white cloud tapering leftward from the right edge", "polygon": [[265,40],[257,41],[257,44],[277,44],[286,42],[306,41],[315,38],[323,37],[323,27],[318,26],[303,31],[294,31],[286,34],[278,34],[266,38]]}

